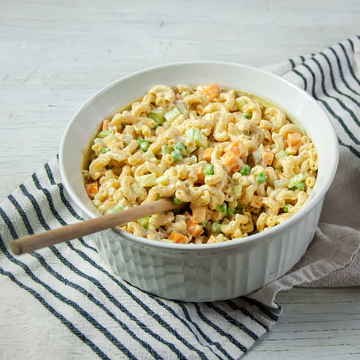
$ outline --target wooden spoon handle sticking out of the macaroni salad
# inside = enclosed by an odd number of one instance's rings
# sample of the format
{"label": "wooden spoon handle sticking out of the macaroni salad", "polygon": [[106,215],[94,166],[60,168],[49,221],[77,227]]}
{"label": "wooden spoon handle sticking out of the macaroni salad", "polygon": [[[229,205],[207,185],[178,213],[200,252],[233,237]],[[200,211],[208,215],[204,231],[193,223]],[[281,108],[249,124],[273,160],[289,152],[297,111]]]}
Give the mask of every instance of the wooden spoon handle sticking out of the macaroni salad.
{"label": "wooden spoon handle sticking out of the macaroni salad", "polygon": [[26,236],[10,243],[10,249],[15,255],[21,255],[43,247],[97,233],[101,230],[124,225],[127,224],[127,222],[135,221],[145,216],[168,210],[179,210],[186,206],[188,206],[188,203],[177,205],[170,198],[161,199],[113,214],[98,216],[95,217],[95,219],[80,221],[62,228]]}

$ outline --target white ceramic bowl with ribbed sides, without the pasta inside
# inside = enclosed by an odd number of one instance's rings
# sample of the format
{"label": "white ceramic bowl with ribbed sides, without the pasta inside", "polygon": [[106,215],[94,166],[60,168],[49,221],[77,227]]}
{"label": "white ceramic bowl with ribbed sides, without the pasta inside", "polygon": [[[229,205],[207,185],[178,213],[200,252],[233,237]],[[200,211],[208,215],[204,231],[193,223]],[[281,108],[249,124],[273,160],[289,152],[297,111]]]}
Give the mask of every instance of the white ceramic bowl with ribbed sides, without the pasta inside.
{"label": "white ceramic bowl with ribbed sides, without the pasta inside", "polygon": [[64,186],[85,218],[101,216],[86,195],[81,164],[100,122],[156,84],[243,90],[283,108],[299,121],[318,150],[318,178],[309,200],[289,220],[243,239],[216,244],[169,244],[118,229],[92,235],[105,262],[144,291],[177,300],[213,301],[248,294],[284,275],[300,260],[318,225],[338,163],[338,141],[325,111],[309,94],[266,71],[235,63],[184,62],[136,72],[89,99],[67,126],[59,164]]}

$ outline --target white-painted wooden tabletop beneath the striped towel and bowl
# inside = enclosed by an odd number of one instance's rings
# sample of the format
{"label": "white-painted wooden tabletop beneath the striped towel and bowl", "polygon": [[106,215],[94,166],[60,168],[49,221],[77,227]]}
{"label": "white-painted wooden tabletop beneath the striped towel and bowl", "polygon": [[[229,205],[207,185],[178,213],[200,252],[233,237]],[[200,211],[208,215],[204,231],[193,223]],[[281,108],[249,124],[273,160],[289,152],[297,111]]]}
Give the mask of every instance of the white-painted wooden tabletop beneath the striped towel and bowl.
{"label": "white-painted wooden tabletop beneath the striped towel and bowl", "polygon": [[[167,62],[316,53],[360,33],[359,15],[358,0],[0,0],[0,201],[55,156],[73,113],[109,82]],[[244,359],[360,358],[359,288],[276,301],[283,315]]]}

